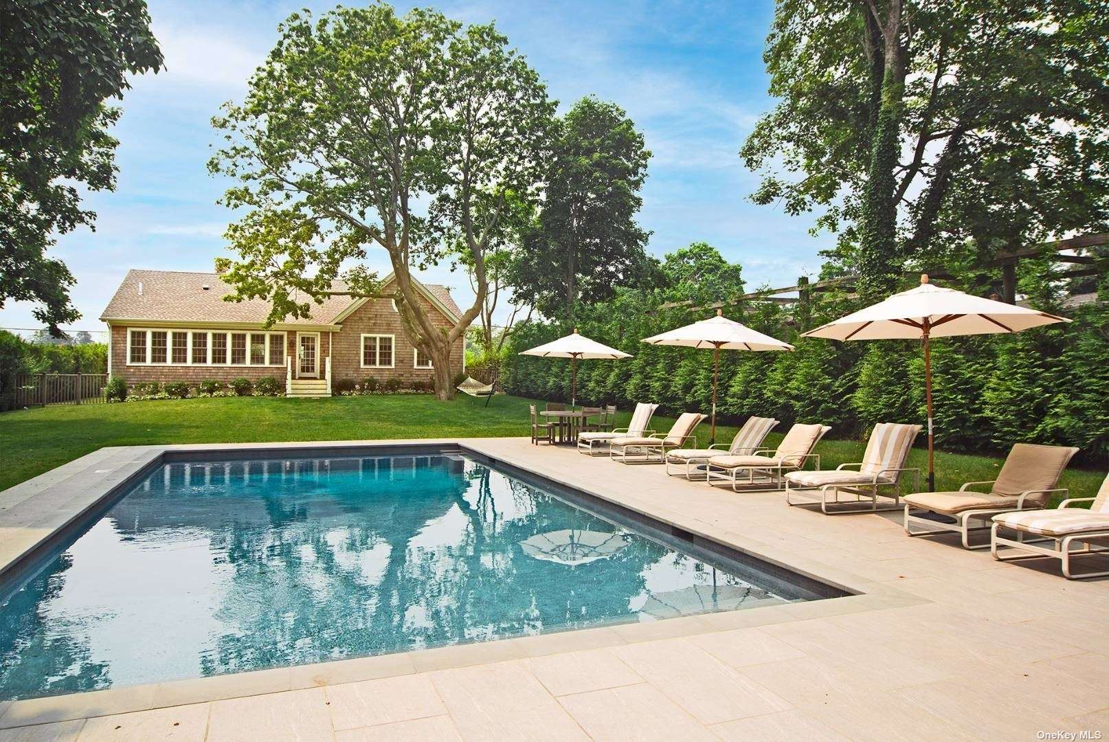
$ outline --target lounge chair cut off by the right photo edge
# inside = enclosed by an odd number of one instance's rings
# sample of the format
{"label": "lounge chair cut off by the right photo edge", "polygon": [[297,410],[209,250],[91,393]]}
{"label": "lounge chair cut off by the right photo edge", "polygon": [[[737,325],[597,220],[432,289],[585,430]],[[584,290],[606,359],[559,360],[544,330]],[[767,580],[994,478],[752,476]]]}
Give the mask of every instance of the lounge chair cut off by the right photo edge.
{"label": "lounge chair cut off by the right photo edge", "polygon": [[[1091,502],[1090,509],[1070,507],[1076,502]],[[1017,540],[1001,538],[997,535],[999,528],[1017,532]],[[1042,537],[1038,541],[1054,541],[1051,548],[1032,546],[1025,539],[1026,533]],[[1078,541],[1083,548],[1071,551],[1070,546]],[[1090,543],[1100,541],[1100,545]],[[1109,571],[1083,572],[1072,575],[1070,557],[1109,555],[1109,477],[1101,482],[1097,497],[1076,497],[1064,500],[1055,510],[1032,510],[1005,512],[994,516],[990,531],[990,552],[998,561],[1016,561],[1018,559],[1041,559],[1051,557],[1062,562],[1062,575],[1068,580],[1085,580],[1091,577],[1105,577]],[[1009,547],[1030,553],[1001,556],[998,547]]]}

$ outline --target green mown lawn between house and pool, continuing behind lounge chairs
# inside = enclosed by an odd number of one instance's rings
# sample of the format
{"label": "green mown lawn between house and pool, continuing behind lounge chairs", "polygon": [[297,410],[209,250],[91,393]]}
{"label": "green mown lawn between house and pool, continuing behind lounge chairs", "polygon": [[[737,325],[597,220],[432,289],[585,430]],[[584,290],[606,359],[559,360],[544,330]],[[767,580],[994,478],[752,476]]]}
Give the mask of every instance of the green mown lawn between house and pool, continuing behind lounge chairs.
{"label": "green mown lawn between house and pool, continuing behind lounge chairs", "polygon": [[[0,490],[103,446],[360,438],[452,438],[528,435],[528,404],[520,397],[459,396],[449,403],[430,395],[375,395],[330,399],[242,397],[166,399],[114,405],[50,406],[0,415]],[[629,415],[622,417],[624,424]],[[670,418],[655,418],[667,429]],[[734,427],[721,427],[730,440]],[[772,434],[776,443],[782,430]],[[835,431],[833,431],[834,435]],[[705,438],[708,426],[698,434]],[[704,443],[704,440],[702,440]],[[909,457],[926,466],[923,438]],[[817,446],[822,468],[857,461],[864,445],[825,438]],[[954,489],[967,480],[994,479],[1000,459],[937,453],[936,487]],[[1062,478],[1072,497],[1092,497],[1103,471],[1071,468]]]}

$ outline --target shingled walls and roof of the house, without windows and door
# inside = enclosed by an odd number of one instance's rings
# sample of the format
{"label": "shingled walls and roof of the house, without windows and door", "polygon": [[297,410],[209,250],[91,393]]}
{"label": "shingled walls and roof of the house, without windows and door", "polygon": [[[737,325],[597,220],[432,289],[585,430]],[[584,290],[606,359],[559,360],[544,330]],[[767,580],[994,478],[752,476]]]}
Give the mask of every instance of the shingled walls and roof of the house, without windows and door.
{"label": "shingled walls and roof of the house, without windows and door", "polygon": [[[207,286],[205,289],[204,286]],[[391,284],[386,284],[386,291]],[[445,286],[420,284],[435,298],[421,296],[424,308],[444,327],[450,327],[460,312]],[[336,285],[342,291],[342,285]],[[285,364],[132,364],[129,362],[129,329],[197,331],[230,333],[283,333],[285,336],[285,358],[293,359],[293,377],[297,373],[297,333],[319,334],[319,378],[324,377],[324,359],[330,355],[332,382],[350,379],[360,382],[373,376],[379,382],[398,378],[404,383],[430,380],[429,368],[415,368],[415,348],[405,334],[399,314],[389,299],[366,299],[347,317],[342,317],[357,299],[347,296],[329,297],[323,305],[313,305],[312,316],[276,324],[262,329],[269,306],[265,302],[224,302],[231,292],[218,274],[175,273],[165,271],[131,271],[128,273],[115,296],[101,317],[111,327],[111,370],[113,376],[123,377],[128,384],[141,382],[187,382],[196,384],[206,379],[228,382],[236,377],[257,380],[263,376],[274,376],[284,384]],[[441,307],[441,308],[440,308]],[[446,309],[446,311],[444,311]],[[222,325],[222,326],[221,326]],[[393,366],[388,368],[364,368],[362,336],[391,335]],[[271,343],[276,338],[272,338]],[[167,353],[173,354],[173,336],[166,337]],[[211,337],[208,344],[212,344]],[[231,354],[228,337],[228,356]],[[150,350],[147,350],[150,353]],[[180,353],[179,353],[180,355]],[[451,350],[451,368],[462,369],[464,342],[461,338]],[[190,353],[190,359],[192,354]],[[230,358],[228,358],[230,359]],[[251,358],[247,357],[247,362]]]}

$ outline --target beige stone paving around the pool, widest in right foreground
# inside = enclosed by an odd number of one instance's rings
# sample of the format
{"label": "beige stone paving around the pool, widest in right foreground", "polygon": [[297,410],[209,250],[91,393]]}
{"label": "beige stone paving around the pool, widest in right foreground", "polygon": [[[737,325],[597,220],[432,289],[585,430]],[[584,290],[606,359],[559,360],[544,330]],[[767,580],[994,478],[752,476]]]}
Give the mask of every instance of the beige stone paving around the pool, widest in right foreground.
{"label": "beige stone paving around the pool, widest in right foreground", "polygon": [[[517,439],[467,445],[865,594],[293,668],[237,687],[0,704],[0,742],[1109,739],[1109,581],[1068,582],[1055,565],[909,539],[889,517],[827,517],[660,467]],[[145,450],[98,451],[67,471],[119,477]],[[45,481],[0,494],[0,529],[67,479]],[[64,720],[65,699],[93,718]]]}

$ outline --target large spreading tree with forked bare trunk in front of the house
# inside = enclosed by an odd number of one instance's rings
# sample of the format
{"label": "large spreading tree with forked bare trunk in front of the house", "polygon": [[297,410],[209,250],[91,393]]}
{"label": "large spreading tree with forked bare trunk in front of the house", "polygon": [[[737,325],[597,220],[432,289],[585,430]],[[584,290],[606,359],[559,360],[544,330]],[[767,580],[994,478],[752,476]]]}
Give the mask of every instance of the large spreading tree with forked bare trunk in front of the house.
{"label": "large spreading tree with forked bare trunk in front of the house", "polygon": [[[553,104],[491,24],[374,3],[318,20],[294,13],[279,32],[245,102],[214,120],[226,145],[210,166],[240,180],[223,202],[246,212],[227,231],[241,258],[218,267],[234,298],[269,301],[276,322],[333,293],[379,296],[362,261],[383,247],[396,276],[390,297],[431,358],[436,395],[449,398],[450,346],[485,302],[485,254],[508,195],[532,196]],[[411,270],[459,243],[476,297],[444,328]]]}

